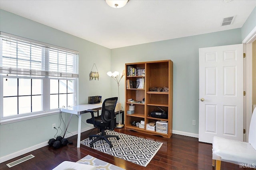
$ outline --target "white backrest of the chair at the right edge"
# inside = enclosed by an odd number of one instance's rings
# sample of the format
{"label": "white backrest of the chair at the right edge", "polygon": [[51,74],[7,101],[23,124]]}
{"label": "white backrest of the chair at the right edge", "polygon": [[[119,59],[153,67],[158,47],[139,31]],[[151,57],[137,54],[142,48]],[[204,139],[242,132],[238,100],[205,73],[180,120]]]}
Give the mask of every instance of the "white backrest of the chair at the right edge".
{"label": "white backrest of the chair at the right edge", "polygon": [[253,113],[252,113],[248,142],[256,150],[256,108],[254,108]]}

